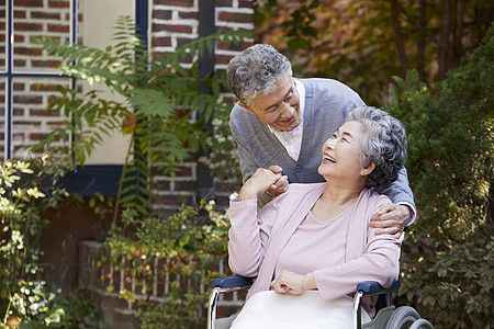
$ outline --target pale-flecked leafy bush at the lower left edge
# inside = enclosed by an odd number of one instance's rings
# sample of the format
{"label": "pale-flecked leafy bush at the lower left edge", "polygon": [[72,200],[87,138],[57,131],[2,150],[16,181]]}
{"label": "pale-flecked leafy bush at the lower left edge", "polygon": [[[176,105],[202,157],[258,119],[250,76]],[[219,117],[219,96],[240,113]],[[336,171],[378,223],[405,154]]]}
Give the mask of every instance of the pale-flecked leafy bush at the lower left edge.
{"label": "pale-flecked leafy bush at the lower left edge", "polygon": [[49,225],[46,212],[69,197],[58,181],[70,170],[44,155],[0,162],[0,328],[96,327],[93,306],[47,286],[38,264],[40,236]]}

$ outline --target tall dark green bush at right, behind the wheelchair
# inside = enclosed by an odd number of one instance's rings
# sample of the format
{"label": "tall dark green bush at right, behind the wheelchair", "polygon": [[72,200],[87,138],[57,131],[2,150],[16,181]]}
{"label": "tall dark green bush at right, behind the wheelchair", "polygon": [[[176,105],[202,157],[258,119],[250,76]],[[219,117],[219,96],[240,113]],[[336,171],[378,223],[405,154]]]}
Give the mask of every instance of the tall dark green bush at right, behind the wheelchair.
{"label": "tall dark green bush at right, behind the wheelchair", "polygon": [[494,25],[435,88],[395,78],[388,111],[408,131],[418,207],[402,256],[402,298],[436,328],[490,328],[494,262]]}

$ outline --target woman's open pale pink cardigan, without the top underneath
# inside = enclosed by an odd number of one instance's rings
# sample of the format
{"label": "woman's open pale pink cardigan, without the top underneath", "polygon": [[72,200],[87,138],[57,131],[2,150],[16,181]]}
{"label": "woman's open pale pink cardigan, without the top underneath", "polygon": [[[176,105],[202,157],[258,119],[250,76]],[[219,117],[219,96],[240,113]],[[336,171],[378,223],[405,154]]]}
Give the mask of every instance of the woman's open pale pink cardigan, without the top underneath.
{"label": "woman's open pale pink cardigan, without the top underneath", "polygon": [[[231,202],[229,266],[235,274],[257,276],[248,297],[271,287],[280,251],[322,195],[326,183],[290,184],[289,191],[260,212],[257,201]],[[401,241],[390,235],[375,235],[370,218],[388,196],[364,189],[350,212],[345,263],[314,272],[325,300],[355,292],[357,284],[377,281],[388,287],[400,271]],[[328,254],[327,257],[332,257]],[[301,273],[305,274],[305,273]],[[366,303],[368,304],[368,303]],[[366,307],[373,315],[373,307]]]}

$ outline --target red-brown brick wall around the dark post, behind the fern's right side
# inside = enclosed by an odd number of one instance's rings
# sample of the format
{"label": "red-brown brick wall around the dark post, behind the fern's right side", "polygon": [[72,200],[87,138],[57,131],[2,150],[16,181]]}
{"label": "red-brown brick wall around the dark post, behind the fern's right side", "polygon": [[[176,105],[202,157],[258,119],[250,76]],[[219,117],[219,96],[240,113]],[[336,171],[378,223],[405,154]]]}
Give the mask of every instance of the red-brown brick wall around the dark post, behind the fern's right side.
{"label": "red-brown brick wall around the dark post, behind the fern's right side", "polygon": [[[216,0],[215,26],[225,30],[252,31],[252,1]],[[172,52],[199,37],[199,0],[155,0],[150,20],[150,48],[155,54]],[[215,48],[215,70],[226,69],[229,59],[248,45],[227,47],[224,44]],[[189,63],[190,64],[190,63]],[[184,63],[187,67],[189,65]],[[225,91],[223,98],[234,101],[233,95]],[[183,164],[176,178],[156,173],[158,182],[158,198],[155,204],[164,211],[177,209],[181,202],[195,203],[197,190],[197,156]],[[215,179],[215,192],[220,205],[226,205],[228,195],[237,185],[221,182]]]}

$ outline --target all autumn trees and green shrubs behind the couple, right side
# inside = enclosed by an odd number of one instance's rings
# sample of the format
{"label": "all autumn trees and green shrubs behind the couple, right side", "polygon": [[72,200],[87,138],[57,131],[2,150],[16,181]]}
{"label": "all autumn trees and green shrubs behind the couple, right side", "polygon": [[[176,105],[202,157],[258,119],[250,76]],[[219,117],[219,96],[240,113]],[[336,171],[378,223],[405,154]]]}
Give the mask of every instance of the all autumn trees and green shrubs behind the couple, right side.
{"label": "all autumn trees and green shrubs behind the couple, right side", "polygon": [[436,328],[491,328],[494,3],[256,1],[257,42],[295,77],[337,79],[408,131],[418,218],[405,238],[400,304]]}

